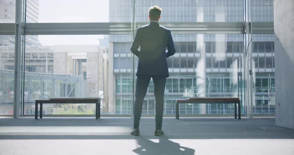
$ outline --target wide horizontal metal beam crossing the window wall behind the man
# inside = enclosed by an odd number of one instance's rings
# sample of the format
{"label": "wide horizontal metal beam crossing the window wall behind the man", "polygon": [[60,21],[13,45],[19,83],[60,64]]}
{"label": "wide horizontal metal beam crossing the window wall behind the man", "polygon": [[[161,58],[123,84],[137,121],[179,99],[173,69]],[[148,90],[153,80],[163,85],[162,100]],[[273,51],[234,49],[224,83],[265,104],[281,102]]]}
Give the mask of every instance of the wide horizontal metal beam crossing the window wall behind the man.
{"label": "wide horizontal metal beam crossing the window wall behind the man", "polygon": [[[136,23],[137,27],[147,23]],[[243,22],[160,22],[173,34],[244,34]],[[131,22],[23,23],[27,35],[131,34]],[[252,22],[251,33],[274,33],[274,22]],[[0,35],[14,35],[15,23],[0,23]]]}

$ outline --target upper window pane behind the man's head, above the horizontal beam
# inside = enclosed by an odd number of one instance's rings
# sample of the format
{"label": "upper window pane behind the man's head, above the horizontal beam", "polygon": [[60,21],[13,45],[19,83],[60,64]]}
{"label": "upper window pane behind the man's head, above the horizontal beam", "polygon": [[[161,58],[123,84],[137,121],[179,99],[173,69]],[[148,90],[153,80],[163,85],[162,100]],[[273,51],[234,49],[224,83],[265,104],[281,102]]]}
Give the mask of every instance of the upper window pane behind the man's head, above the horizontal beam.
{"label": "upper window pane behind the man's head, above the horizontal beam", "polygon": [[153,5],[162,8],[162,22],[243,21],[243,0],[136,0],[136,21],[147,22]]}

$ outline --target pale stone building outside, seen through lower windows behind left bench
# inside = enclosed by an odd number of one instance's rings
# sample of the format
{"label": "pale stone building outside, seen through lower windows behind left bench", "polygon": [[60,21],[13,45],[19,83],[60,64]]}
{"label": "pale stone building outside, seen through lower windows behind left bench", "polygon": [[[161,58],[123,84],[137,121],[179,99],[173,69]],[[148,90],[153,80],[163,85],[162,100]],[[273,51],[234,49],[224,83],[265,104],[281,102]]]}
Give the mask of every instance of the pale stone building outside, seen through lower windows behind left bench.
{"label": "pale stone building outside, seen through lower windows behind left bench", "polygon": [[[34,100],[50,97],[78,97],[103,95],[108,73],[107,60],[103,59],[104,48],[98,45],[27,46],[25,49],[24,114],[34,113]],[[1,48],[0,114],[10,114],[13,98],[14,50]],[[99,64],[99,66],[97,66]],[[107,81],[107,80],[106,80]],[[102,100],[103,102],[103,100]],[[91,105],[88,109],[94,111]],[[44,114],[56,114],[56,105],[44,108]]]}

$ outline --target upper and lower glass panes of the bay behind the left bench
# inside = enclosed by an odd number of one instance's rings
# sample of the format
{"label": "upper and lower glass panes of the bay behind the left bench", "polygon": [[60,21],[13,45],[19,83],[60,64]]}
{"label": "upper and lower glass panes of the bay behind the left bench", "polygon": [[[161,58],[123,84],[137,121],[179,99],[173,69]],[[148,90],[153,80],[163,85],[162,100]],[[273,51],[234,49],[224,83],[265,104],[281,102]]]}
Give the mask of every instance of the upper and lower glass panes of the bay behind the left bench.
{"label": "upper and lower glass panes of the bay behind the left bench", "polygon": [[[110,20],[120,15],[124,16],[125,22],[131,22],[132,0],[118,1],[115,6],[110,3],[112,0],[26,0],[26,22],[102,25],[122,22]],[[120,10],[119,7],[129,9]],[[126,102],[124,96],[116,97],[126,91],[130,93],[128,96],[133,94],[132,87],[126,87],[133,81],[132,54],[129,52],[131,31],[127,35],[104,33],[26,35],[23,114],[34,114],[35,99],[50,97],[101,97],[102,114],[132,113],[133,99]],[[123,78],[122,87],[115,84],[118,78]],[[95,105],[47,104],[43,113],[92,115]]]}

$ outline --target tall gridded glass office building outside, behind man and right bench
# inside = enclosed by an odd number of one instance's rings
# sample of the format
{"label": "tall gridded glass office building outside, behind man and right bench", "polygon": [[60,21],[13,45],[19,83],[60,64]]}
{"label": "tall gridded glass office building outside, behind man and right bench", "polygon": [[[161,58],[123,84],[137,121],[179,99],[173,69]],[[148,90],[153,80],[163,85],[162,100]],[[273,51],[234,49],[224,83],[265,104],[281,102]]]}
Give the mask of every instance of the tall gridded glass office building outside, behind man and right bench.
{"label": "tall gridded glass office building outside, behind man and right bench", "polygon": [[[252,1],[252,21],[273,21],[273,1]],[[159,22],[240,22],[243,0],[136,0],[135,21],[148,23],[148,9],[162,8]],[[130,22],[130,0],[110,0],[110,22]],[[260,8],[262,7],[262,8]],[[174,114],[177,99],[187,97],[240,97],[244,112],[244,36],[242,34],[173,34],[176,54],[167,59],[164,114]],[[256,114],[275,113],[273,35],[253,35]],[[132,36],[110,36],[113,56],[113,111],[131,114],[133,108]],[[137,68],[135,59],[135,68]],[[150,81],[143,114],[155,113],[154,86]],[[232,114],[233,105],[180,105],[182,114]]]}

